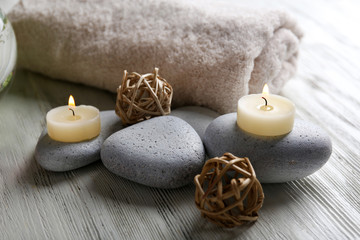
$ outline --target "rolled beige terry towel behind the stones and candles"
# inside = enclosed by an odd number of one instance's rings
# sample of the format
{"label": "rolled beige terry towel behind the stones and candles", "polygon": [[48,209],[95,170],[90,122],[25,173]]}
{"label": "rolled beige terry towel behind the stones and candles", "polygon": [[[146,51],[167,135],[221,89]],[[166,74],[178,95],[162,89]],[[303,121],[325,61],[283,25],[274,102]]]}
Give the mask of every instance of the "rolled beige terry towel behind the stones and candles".
{"label": "rolled beige terry towel behind the stones and candles", "polygon": [[174,0],[22,0],[10,12],[18,65],[116,92],[123,71],[159,74],[173,104],[236,111],[295,73],[302,32],[281,11],[213,11]]}

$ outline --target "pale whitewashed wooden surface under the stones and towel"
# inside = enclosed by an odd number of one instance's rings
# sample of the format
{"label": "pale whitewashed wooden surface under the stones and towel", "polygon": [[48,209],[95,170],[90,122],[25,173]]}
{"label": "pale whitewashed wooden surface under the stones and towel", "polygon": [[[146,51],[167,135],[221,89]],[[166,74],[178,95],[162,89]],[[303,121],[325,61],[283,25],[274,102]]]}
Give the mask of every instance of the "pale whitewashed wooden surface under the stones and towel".
{"label": "pale whitewashed wooden surface under the stones and towel", "polygon": [[[16,0],[3,1],[8,9]],[[200,217],[193,185],[149,188],[111,174],[100,162],[48,172],[33,157],[46,112],[63,105],[69,92],[77,103],[101,110],[112,109],[115,96],[19,71],[0,101],[0,238],[360,239],[360,2],[251,5],[284,8],[305,30],[298,74],[282,94],[296,103],[297,117],[321,125],[333,140],[333,154],[320,171],[264,185],[259,220],[231,230]]]}

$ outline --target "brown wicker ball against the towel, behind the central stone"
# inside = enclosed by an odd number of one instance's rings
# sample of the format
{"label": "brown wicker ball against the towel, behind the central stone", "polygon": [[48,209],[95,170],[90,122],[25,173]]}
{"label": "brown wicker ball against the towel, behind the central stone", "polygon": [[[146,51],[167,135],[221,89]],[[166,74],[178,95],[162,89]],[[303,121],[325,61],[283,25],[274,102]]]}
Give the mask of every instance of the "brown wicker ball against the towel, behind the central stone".
{"label": "brown wicker ball against the towel, behind the central stone", "polygon": [[143,75],[124,71],[123,81],[117,89],[115,109],[123,124],[170,113],[173,89],[158,72],[158,68]]}

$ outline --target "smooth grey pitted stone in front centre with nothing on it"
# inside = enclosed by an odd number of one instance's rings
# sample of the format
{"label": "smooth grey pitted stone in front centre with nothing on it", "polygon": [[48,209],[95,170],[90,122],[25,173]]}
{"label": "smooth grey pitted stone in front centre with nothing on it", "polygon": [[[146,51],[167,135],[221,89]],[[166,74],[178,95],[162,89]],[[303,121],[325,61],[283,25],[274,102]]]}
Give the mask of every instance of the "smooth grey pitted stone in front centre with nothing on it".
{"label": "smooth grey pitted stone in front centre with nothing on it", "polygon": [[162,116],[111,135],[101,148],[101,160],[111,172],[134,182],[177,188],[201,172],[205,149],[188,123]]}

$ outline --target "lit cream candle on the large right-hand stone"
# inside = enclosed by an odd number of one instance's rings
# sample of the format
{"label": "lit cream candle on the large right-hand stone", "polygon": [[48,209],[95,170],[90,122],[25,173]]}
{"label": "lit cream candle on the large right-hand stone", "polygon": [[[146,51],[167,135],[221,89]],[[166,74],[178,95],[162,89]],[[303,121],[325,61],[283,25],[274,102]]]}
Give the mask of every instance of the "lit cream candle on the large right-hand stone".
{"label": "lit cream candle on the large right-hand stone", "polygon": [[294,125],[295,105],[287,98],[269,94],[265,84],[262,94],[246,95],[238,101],[237,124],[249,133],[279,136]]}

